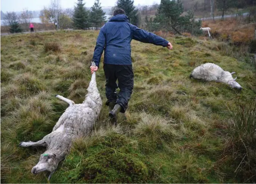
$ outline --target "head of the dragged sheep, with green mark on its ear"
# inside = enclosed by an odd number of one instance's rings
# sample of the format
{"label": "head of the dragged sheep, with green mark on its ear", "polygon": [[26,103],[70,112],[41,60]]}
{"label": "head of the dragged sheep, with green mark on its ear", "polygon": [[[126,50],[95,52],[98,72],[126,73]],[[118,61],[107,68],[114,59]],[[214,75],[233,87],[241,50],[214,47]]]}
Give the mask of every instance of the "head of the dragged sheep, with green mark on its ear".
{"label": "head of the dragged sheep, with green mark on its ear", "polygon": [[31,172],[33,174],[38,174],[43,171],[54,172],[58,167],[58,162],[56,159],[56,154],[53,153],[44,153],[41,154],[38,164],[36,164]]}

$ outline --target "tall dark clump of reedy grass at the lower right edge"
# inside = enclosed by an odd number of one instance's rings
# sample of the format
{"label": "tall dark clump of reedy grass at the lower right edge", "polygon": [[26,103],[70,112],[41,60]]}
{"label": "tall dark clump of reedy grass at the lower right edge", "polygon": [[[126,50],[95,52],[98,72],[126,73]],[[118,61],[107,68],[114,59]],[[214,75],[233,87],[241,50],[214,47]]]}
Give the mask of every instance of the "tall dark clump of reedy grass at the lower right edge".
{"label": "tall dark clump of reedy grass at the lower right edge", "polygon": [[231,152],[236,173],[253,182],[256,179],[256,99],[248,106],[238,104],[229,125],[231,140],[227,151]]}

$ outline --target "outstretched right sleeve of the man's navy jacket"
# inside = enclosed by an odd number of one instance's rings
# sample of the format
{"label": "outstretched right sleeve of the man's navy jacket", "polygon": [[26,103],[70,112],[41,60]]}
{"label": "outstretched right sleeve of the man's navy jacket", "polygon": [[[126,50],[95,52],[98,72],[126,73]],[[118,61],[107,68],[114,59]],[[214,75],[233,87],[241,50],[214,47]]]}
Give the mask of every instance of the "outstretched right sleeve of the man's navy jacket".
{"label": "outstretched right sleeve of the man's navy jacket", "polygon": [[163,47],[166,47],[168,44],[168,41],[166,39],[163,39],[160,36],[157,36],[154,33],[150,33],[148,31],[142,30],[134,25],[131,25],[132,30],[132,39],[143,42],[143,43],[149,43],[154,45],[161,45]]}

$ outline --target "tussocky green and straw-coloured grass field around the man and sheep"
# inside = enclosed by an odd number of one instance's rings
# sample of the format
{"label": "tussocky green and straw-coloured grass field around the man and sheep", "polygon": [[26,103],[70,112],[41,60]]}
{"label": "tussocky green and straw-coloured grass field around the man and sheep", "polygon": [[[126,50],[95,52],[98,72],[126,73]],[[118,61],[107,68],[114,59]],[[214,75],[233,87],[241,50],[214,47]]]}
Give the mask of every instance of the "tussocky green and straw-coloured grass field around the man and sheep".
{"label": "tussocky green and straw-coloured grass field around the man and sheep", "polygon": [[[22,148],[19,142],[52,131],[68,107],[55,94],[84,100],[97,34],[1,37],[1,182],[48,182],[47,173],[31,173],[44,149]],[[103,106],[91,136],[73,143],[51,183],[256,181],[256,113],[250,105],[256,96],[255,61],[224,42],[166,39],[172,51],[132,41],[135,86],[126,114],[112,126]],[[242,92],[191,80],[190,72],[206,62],[235,71]],[[105,103],[102,67],[101,62],[96,80]]]}

